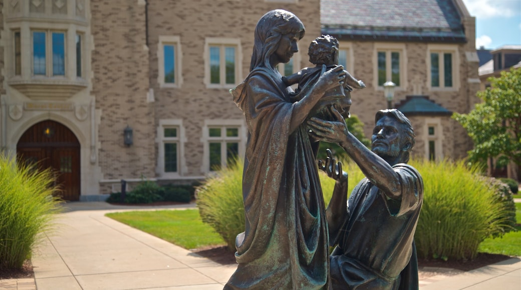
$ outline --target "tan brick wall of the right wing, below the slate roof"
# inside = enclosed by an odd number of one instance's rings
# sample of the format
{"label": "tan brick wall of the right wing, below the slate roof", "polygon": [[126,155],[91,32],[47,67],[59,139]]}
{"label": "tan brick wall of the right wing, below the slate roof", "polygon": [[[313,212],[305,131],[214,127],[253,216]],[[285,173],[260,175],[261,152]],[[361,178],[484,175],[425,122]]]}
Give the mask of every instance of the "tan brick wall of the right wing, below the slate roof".
{"label": "tan brick wall of the right wing, below the slate roof", "polygon": [[[345,45],[346,43],[344,43]],[[402,43],[403,44],[403,43]],[[458,67],[459,78],[456,90],[431,90],[428,84],[428,65],[427,65],[427,43],[404,43],[406,56],[406,84],[402,84],[403,89],[395,91],[393,104],[398,104],[409,95],[427,95],[429,99],[445,109],[452,112],[468,113],[476,102],[476,92],[479,84],[469,83],[469,78],[477,78],[477,62],[469,61],[466,51],[470,49],[469,44],[458,44]],[[351,42],[354,56],[353,75],[364,81],[366,88],[355,89],[352,96],[351,113],[357,115],[364,123],[366,137],[370,138],[375,124],[374,116],[378,110],[387,108],[387,101],[383,97],[383,91],[374,86],[374,42]],[[454,46],[454,45],[453,45]],[[342,47],[342,42],[340,43]],[[456,82],[455,82],[456,83]],[[465,129],[453,120],[443,121],[443,130],[446,144],[444,145],[444,156],[451,158],[462,158],[466,152],[472,148],[472,142],[467,138]],[[450,133],[450,134],[449,134]],[[420,154],[419,146],[415,147],[416,154]],[[422,151],[423,152],[423,151]]]}

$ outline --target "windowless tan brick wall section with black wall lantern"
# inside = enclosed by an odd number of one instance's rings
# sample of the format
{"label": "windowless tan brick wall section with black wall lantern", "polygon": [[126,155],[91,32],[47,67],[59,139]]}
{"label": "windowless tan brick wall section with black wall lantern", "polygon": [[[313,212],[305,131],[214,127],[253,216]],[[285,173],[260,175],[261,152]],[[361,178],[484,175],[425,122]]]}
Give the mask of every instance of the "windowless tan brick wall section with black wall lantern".
{"label": "windowless tan brick wall section with black wall lantern", "polygon": [[[144,1],[92,0],[92,94],[101,112],[99,164],[105,180],[153,177],[154,104],[147,102],[148,49]],[[123,129],[133,144],[123,144]]]}

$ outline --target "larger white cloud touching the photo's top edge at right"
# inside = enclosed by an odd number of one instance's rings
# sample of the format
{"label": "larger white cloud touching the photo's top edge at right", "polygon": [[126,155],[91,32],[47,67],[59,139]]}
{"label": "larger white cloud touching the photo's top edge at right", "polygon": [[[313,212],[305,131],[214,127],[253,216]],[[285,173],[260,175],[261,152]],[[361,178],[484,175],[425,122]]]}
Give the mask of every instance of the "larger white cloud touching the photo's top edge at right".
{"label": "larger white cloud touching the photo's top edge at right", "polygon": [[478,18],[512,17],[521,13],[521,0],[463,0],[470,15]]}

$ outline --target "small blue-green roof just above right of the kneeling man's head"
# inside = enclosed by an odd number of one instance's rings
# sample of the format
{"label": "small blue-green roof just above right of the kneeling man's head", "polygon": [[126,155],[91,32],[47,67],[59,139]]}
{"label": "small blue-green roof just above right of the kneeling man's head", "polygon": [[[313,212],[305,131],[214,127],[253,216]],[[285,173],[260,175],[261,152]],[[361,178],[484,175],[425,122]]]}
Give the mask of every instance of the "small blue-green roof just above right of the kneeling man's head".
{"label": "small blue-green roof just above right of the kneeling man's head", "polygon": [[452,112],[429,100],[428,96],[407,96],[396,108],[404,115],[452,115]]}

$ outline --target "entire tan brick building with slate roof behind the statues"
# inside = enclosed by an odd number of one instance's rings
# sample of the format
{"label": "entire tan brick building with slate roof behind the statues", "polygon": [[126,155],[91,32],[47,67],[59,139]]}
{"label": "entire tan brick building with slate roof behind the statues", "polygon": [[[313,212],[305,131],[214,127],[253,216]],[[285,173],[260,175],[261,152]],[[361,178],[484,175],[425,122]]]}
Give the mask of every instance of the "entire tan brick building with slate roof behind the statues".
{"label": "entire tan brick building with slate roof behind the statues", "polygon": [[58,170],[67,200],[103,200],[121,179],[204,178],[244,154],[244,116],[228,90],[249,72],[257,20],[283,8],[306,27],[283,74],[311,65],[315,37],[337,36],[345,67],[367,85],[352,107],[367,136],[386,108],[381,81],[398,80],[394,104],[412,108],[415,154],[464,156],[471,144],[450,112],[472,109],[479,87],[474,18],[461,0],[401,0],[364,16],[377,4],[0,0],[1,150]]}

